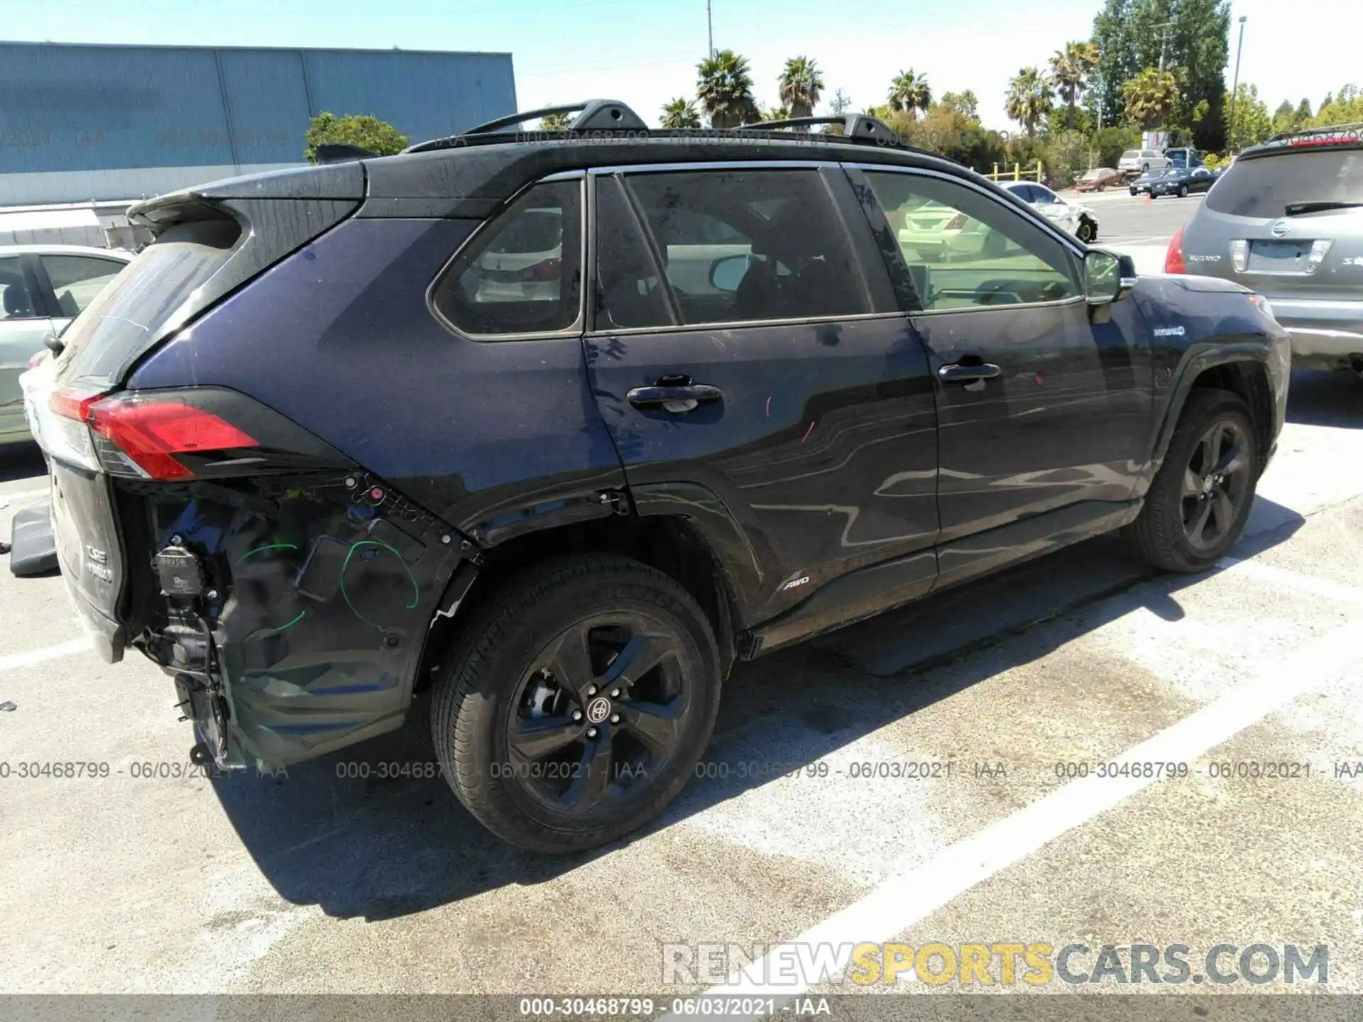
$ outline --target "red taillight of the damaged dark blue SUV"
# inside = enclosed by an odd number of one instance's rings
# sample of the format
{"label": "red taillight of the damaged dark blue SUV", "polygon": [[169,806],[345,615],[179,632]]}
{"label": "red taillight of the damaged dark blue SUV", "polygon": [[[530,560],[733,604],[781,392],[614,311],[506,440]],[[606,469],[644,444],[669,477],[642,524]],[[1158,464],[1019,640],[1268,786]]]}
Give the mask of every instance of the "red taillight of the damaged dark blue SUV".
{"label": "red taillight of the damaged dark blue SUV", "polygon": [[86,424],[104,467],[116,474],[174,481],[194,478],[176,455],[256,447],[249,433],[177,398],[105,397],[64,388],[48,401],[53,413]]}

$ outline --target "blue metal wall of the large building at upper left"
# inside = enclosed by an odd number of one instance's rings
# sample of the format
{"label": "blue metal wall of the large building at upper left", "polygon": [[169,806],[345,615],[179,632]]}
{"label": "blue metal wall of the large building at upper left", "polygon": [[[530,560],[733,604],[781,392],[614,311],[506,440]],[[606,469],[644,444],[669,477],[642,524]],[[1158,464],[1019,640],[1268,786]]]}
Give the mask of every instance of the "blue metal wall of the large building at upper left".
{"label": "blue metal wall of the large building at upper left", "polygon": [[0,42],[0,174],[293,164],[322,110],[420,140],[515,109],[510,53]]}

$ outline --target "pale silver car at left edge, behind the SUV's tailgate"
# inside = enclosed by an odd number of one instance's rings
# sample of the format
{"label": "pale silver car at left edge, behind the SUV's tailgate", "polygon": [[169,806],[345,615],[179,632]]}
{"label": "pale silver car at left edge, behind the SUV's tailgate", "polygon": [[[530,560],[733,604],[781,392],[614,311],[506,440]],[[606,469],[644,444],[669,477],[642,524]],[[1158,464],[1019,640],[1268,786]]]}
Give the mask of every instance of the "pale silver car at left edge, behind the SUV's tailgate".
{"label": "pale silver car at left edge, behind the SUV's tailgate", "polygon": [[0,447],[30,439],[19,375],[131,259],[85,245],[0,247]]}

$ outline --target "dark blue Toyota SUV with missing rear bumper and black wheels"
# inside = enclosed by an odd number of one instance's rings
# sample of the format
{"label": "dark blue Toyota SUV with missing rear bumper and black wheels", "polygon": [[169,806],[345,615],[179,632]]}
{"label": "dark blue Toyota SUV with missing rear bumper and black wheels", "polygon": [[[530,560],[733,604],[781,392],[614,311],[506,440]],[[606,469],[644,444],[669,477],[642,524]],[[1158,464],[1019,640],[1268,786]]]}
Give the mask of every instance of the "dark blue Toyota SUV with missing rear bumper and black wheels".
{"label": "dark blue Toyota SUV with missing rear bumper and black wheels", "polygon": [[1287,401],[1258,296],[867,117],[571,109],[129,213],[40,432],[72,597],[196,762],[432,684],[472,814],[586,848],[677,794],[737,660],[1119,527],[1174,571],[1236,541]]}

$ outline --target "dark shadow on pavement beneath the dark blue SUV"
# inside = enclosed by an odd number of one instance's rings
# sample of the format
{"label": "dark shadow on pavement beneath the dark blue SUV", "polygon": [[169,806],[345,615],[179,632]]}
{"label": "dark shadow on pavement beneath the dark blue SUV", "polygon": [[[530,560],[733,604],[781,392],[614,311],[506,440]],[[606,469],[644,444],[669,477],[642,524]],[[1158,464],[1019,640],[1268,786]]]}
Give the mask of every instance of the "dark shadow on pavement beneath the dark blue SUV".
{"label": "dark shadow on pavement beneath the dark blue SUV", "polygon": [[[1247,531],[1238,557],[1285,541],[1303,522],[1262,497],[1255,514],[1251,522],[1264,527]],[[1044,632],[1045,643],[1028,645],[1017,662],[1045,655],[1139,606],[1178,620],[1178,591],[1201,578],[1159,576],[1104,537],[740,664],[703,759],[714,764],[713,773],[728,775],[694,777],[643,833],[807,766],[1015,666],[1003,653],[1014,647],[1002,640],[1039,621],[1090,608]],[[968,657],[991,646],[998,647],[991,655]],[[961,665],[949,681],[915,681],[915,673],[947,661]],[[286,777],[248,771],[214,782],[243,843],[281,897],[316,903],[330,916],[393,918],[507,884],[549,880],[627,843],[553,858],[519,852],[484,831],[438,775],[428,703],[427,695],[418,696],[399,732],[290,767]],[[378,779],[382,764],[406,764],[416,775]],[[740,766],[750,764],[766,769],[739,777]],[[352,775],[361,770],[367,778]]]}

